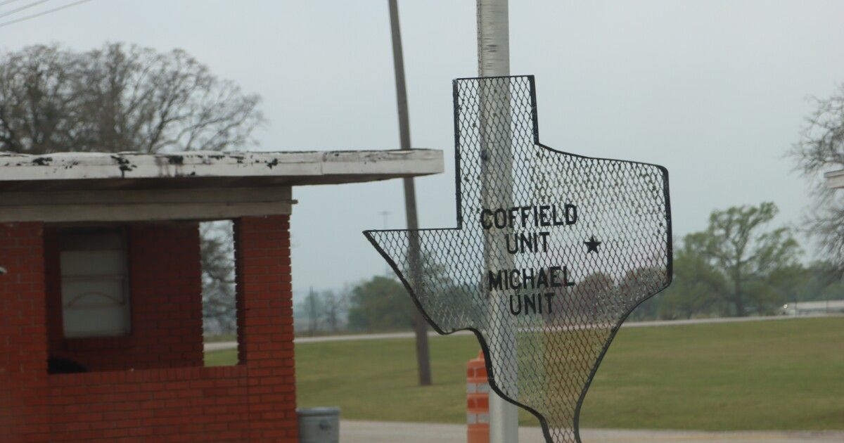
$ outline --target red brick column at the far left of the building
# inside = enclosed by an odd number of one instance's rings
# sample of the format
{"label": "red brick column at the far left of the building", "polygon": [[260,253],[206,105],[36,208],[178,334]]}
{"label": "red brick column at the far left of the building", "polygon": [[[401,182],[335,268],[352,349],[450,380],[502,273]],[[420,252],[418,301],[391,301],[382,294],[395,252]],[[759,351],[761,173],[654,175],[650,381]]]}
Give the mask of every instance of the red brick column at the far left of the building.
{"label": "red brick column at the far left of the building", "polygon": [[0,441],[46,441],[47,337],[41,223],[0,224]]}

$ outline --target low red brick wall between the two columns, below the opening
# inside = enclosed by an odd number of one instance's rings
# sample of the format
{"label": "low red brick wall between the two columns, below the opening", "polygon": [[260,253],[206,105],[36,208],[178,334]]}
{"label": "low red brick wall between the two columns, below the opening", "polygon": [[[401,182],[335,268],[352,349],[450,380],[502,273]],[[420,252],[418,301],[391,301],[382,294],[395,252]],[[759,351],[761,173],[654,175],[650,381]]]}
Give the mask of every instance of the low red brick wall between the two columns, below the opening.
{"label": "low red brick wall between the two columns, below the opening", "polygon": [[[49,377],[46,432],[30,441],[254,441],[246,366]],[[278,441],[278,440],[277,440]]]}

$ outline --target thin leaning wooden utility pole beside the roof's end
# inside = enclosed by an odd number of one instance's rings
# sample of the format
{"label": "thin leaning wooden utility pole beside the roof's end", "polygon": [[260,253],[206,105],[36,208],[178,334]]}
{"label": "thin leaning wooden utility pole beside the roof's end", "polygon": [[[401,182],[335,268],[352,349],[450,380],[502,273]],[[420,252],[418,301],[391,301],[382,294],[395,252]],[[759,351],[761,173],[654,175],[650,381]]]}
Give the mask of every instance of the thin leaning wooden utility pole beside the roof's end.
{"label": "thin leaning wooden utility pole beside the roof's end", "polygon": [[[410,149],[410,123],[408,118],[408,91],[404,85],[404,55],[402,53],[402,32],[398,26],[398,4],[387,0],[390,7],[390,30],[392,31],[392,66],[396,73],[396,102],[398,107],[398,134],[401,149]],[[419,253],[419,221],[416,217],[416,188],[413,178],[404,180],[404,213],[407,216],[410,242],[411,278],[419,282],[422,260]],[[417,286],[420,287],[420,286]],[[428,386],[430,376],[430,352],[428,350],[428,323],[418,309],[414,309],[414,332],[416,333],[416,364],[419,366],[419,385]]]}

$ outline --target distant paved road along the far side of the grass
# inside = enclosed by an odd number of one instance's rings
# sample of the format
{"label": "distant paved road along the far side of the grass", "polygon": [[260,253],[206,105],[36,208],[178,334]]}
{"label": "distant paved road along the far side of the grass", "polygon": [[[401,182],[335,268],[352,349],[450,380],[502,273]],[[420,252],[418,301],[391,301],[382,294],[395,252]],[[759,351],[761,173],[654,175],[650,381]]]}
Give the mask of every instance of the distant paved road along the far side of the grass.
{"label": "distant paved road along the far side of the grass", "polygon": [[[728,318],[698,318],[694,320],[665,320],[665,321],[625,321],[621,325],[627,327],[663,327],[678,325],[701,325],[706,323],[736,323],[741,321],[779,321],[795,320],[799,318],[810,318],[824,315],[812,316],[766,316],[766,317],[728,317]],[[457,331],[452,335],[471,335],[469,331]],[[428,332],[429,337],[438,337],[436,332]],[[322,342],[345,342],[354,340],[383,340],[386,338],[414,338],[414,332],[389,332],[383,334],[354,334],[354,335],[330,335],[325,337],[300,337],[295,338],[295,343],[322,343]],[[205,343],[206,351],[219,351],[222,349],[237,348],[236,342]]]}

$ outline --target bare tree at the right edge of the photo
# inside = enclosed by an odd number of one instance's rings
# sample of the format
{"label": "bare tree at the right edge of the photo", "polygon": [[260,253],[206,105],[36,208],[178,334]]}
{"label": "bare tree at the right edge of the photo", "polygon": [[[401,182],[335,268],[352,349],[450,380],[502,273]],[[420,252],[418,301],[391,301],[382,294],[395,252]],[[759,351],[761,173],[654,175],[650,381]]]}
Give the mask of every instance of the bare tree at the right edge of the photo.
{"label": "bare tree at the right edge of the photo", "polygon": [[797,169],[814,188],[815,208],[808,228],[821,251],[844,274],[844,196],[825,187],[822,173],[844,169],[844,83],[827,99],[811,98],[814,111],[806,118],[791,155]]}

